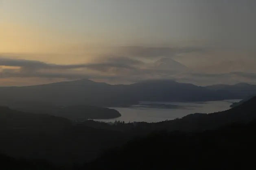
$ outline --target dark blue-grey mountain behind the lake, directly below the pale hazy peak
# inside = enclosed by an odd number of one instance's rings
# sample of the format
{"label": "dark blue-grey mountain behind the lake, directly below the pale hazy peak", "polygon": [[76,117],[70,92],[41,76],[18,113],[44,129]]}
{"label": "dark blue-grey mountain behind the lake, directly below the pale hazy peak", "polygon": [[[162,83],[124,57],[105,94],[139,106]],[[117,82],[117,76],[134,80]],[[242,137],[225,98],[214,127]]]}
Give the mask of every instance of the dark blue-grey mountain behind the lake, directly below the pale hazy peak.
{"label": "dark blue-grey mountain behind the lake, directly below the pale hazy peak", "polygon": [[148,80],[129,85],[130,93],[139,101],[210,101],[235,99],[228,91],[211,91],[188,83],[173,80]]}

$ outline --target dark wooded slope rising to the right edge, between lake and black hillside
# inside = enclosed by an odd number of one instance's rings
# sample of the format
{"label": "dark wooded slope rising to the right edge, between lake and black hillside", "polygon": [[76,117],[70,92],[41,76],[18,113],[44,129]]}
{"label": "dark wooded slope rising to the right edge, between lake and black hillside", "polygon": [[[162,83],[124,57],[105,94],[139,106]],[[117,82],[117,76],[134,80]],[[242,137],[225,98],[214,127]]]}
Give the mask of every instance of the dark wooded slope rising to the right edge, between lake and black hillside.
{"label": "dark wooded slope rising to the right edge, between lake and black hillside", "polygon": [[162,126],[165,126],[165,128],[168,127],[168,130],[171,131],[181,130],[191,132],[212,130],[236,122],[248,123],[254,119],[256,119],[256,97],[229,110],[210,114],[195,113],[187,115],[182,119],[163,122]]}

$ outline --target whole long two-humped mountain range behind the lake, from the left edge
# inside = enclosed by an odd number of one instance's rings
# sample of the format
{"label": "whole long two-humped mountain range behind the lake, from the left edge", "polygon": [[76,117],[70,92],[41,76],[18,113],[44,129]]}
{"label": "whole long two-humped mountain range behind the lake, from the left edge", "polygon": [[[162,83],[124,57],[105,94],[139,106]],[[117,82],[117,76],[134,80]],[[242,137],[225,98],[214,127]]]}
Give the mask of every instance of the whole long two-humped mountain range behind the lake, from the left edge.
{"label": "whole long two-humped mountain range behind the lake, from the left edge", "polygon": [[150,80],[131,85],[109,85],[87,79],[25,87],[0,87],[0,105],[15,101],[54,106],[130,106],[139,101],[210,101],[237,99],[227,90],[210,90],[171,80]]}

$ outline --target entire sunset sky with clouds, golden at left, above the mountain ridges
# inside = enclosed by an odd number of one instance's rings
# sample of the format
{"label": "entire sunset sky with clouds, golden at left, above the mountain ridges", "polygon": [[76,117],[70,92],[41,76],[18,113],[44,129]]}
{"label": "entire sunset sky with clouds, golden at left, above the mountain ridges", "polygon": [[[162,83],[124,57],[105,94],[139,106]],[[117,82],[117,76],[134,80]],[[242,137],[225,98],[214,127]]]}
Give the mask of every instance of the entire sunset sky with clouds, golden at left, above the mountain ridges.
{"label": "entire sunset sky with clouds, golden at left, above the mountain ridges", "polygon": [[0,0],[0,86],[256,84],[255,0]]}

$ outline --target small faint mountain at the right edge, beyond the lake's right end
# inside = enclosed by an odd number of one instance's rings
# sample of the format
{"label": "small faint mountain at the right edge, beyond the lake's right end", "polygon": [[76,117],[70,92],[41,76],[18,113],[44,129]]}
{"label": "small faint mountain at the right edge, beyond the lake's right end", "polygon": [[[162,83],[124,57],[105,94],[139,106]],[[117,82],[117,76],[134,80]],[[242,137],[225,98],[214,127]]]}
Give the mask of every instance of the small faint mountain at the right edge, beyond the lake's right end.
{"label": "small faint mountain at the right edge, beyond the lake's right end", "polygon": [[206,86],[206,88],[214,91],[225,90],[238,96],[240,99],[256,94],[256,85],[248,83],[238,83],[236,85],[210,85]]}

